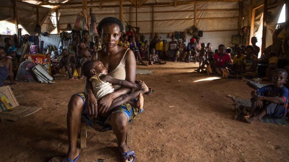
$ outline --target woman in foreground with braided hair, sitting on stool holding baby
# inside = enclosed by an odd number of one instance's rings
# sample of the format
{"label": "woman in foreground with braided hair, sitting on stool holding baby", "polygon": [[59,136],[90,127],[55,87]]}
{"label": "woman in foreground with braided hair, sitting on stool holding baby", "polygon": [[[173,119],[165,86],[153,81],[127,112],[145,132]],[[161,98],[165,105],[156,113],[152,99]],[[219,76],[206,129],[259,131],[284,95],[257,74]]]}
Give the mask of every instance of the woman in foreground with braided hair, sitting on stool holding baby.
{"label": "woman in foreground with braided hair, sitting on stool holding baby", "polygon": [[[113,78],[133,83],[136,79],[136,59],[134,53],[130,49],[117,45],[121,38],[121,31],[123,31],[121,21],[115,17],[106,17],[99,22],[97,31],[101,36],[105,48],[93,53],[91,60],[101,61],[104,67],[107,67],[108,75]],[[118,148],[122,152],[121,161],[134,161],[135,153],[127,147],[125,139],[128,122],[132,121],[140,110],[132,107],[128,103],[124,103],[108,111],[115,98],[132,92],[130,88],[118,85],[112,86],[115,91],[103,96],[97,101],[92,91],[92,83],[89,81],[89,78],[86,78],[84,86],[85,93],[78,93],[71,97],[67,112],[69,149],[66,159],[63,161],[75,161],[79,158],[76,144],[82,115],[83,117],[87,117],[88,115],[90,117],[100,116],[105,118],[112,127],[113,133],[116,135]],[[106,118],[105,116],[109,117]],[[90,118],[86,119],[92,122]],[[96,129],[97,126],[94,126],[95,123],[92,127]]]}

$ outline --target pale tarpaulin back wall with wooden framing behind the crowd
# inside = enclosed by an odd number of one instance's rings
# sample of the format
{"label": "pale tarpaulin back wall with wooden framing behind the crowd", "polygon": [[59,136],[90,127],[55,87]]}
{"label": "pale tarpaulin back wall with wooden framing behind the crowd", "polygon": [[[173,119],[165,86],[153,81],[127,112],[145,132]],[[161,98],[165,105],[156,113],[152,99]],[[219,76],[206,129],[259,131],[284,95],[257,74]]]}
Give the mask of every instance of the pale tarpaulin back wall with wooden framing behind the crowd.
{"label": "pale tarpaulin back wall with wooden framing behind the crowd", "polygon": [[[151,39],[152,32],[158,32],[162,39],[170,41],[170,38],[166,38],[167,33],[184,32],[194,25],[194,7],[194,3],[177,7],[140,6],[137,8],[137,26],[140,27],[140,32],[145,34],[146,40]],[[204,32],[201,41],[206,44],[212,43],[213,48],[217,48],[218,44],[232,47],[231,36],[238,34],[238,8],[239,2],[197,3],[197,27]],[[77,13],[81,10],[60,8],[60,30],[65,30],[67,24],[73,26]],[[119,18],[119,7],[92,8],[92,13],[95,13],[98,24],[107,16]],[[136,26],[136,7],[123,7],[123,21]],[[188,35],[188,39],[191,37]]]}

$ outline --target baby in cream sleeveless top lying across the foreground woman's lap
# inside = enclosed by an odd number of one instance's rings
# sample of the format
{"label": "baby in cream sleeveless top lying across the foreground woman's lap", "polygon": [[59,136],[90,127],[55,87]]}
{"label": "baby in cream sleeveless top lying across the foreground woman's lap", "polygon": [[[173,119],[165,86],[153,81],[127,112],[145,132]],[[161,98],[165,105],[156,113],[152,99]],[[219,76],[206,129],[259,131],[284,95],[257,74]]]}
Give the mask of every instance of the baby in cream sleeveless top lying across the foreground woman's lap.
{"label": "baby in cream sleeveless top lying across the foreground woman's lap", "polygon": [[[84,76],[89,78],[89,81],[92,82],[92,92],[95,95],[96,100],[99,100],[103,96],[114,92],[112,84],[121,85],[127,88],[139,89],[137,91],[115,98],[112,101],[108,111],[106,112],[106,115],[110,114],[113,108],[126,102],[129,103],[131,106],[140,109],[141,112],[143,111],[144,99],[142,93],[148,92],[148,88],[144,84],[144,81],[135,81],[136,83],[131,83],[126,80],[115,79],[112,76],[108,75],[107,68],[104,67],[102,62],[99,60],[86,61],[82,66],[82,72]],[[138,100],[136,102],[132,101],[136,97],[139,97]]]}

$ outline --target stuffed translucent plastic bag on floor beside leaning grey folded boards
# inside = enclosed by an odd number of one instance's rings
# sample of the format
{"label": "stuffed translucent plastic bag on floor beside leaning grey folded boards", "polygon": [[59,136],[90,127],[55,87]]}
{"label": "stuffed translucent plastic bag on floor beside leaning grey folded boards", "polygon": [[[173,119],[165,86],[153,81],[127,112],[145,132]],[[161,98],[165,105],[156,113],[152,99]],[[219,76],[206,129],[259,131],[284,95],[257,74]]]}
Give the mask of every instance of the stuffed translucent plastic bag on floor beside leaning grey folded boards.
{"label": "stuffed translucent plastic bag on floor beside leaning grey folded boards", "polygon": [[28,57],[27,61],[24,61],[19,65],[15,80],[25,82],[37,81],[36,75],[32,70],[35,66],[36,64],[32,61],[32,58]]}

